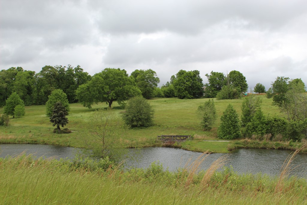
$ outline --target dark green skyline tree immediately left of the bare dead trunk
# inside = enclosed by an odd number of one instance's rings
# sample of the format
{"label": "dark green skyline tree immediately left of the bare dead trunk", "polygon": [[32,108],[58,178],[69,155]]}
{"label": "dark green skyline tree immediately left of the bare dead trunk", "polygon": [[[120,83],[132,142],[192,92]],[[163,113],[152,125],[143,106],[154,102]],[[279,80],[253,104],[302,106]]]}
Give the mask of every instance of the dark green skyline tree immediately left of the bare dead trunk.
{"label": "dark green skyline tree immediately left of the bare dead trunk", "polygon": [[210,75],[208,73],[206,74],[206,77],[208,79],[208,83],[205,84],[206,88],[204,95],[208,98],[214,98],[225,85],[225,76],[223,73],[211,71]]}

